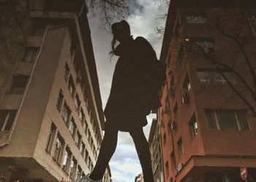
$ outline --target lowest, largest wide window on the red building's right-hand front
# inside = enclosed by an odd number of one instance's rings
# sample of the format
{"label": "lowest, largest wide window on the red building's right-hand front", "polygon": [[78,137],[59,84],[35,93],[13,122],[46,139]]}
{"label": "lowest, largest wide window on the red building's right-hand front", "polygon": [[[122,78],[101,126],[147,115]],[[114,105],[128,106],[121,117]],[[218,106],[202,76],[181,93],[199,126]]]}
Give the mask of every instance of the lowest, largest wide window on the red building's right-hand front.
{"label": "lowest, largest wide window on the red building's right-hand front", "polygon": [[208,125],[217,130],[249,130],[243,110],[206,110]]}

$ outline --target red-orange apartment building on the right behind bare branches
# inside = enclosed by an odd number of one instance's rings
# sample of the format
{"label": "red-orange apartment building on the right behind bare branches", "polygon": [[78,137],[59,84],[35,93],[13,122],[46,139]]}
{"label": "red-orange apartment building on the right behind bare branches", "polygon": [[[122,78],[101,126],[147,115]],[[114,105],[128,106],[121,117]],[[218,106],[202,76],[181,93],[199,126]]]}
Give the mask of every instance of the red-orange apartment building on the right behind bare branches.
{"label": "red-orange apartment building on the right behind bare branches", "polygon": [[170,1],[165,181],[256,181],[255,12],[255,1]]}

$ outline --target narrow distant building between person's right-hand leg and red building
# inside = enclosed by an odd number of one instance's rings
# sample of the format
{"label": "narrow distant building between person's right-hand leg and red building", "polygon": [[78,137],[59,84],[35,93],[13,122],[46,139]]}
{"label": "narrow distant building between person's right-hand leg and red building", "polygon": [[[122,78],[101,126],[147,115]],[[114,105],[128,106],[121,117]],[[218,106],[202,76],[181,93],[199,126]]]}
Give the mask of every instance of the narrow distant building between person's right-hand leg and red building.
{"label": "narrow distant building between person's right-hand leg and red building", "polygon": [[160,135],[159,117],[152,120],[148,137],[148,145],[151,153],[152,170],[155,182],[164,181],[164,169],[162,166],[162,143]]}

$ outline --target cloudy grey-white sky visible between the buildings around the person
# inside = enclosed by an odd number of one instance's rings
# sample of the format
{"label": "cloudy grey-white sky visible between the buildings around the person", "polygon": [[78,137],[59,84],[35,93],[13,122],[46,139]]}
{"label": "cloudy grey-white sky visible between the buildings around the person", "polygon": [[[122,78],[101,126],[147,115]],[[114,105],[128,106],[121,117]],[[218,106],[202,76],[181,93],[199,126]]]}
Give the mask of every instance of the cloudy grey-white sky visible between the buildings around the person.
{"label": "cloudy grey-white sky visible between the buildings around the person", "polygon": [[[132,13],[126,17],[126,20],[130,25],[132,36],[134,38],[143,36],[148,39],[159,58],[162,38],[157,35],[156,27],[165,25],[165,22],[158,20],[157,15],[167,12],[167,4],[164,2],[155,3],[153,0],[137,0],[136,3],[132,2],[130,8]],[[102,104],[103,108],[105,108],[117,58],[110,58],[108,54],[111,50],[112,33],[110,30],[102,28],[97,12],[89,12],[89,24],[97,63]],[[153,118],[154,114],[147,117],[148,125],[144,127],[144,133],[147,138]],[[142,171],[132,138],[127,132],[118,133],[118,146],[110,160],[110,169],[113,182],[134,181],[135,176]]]}

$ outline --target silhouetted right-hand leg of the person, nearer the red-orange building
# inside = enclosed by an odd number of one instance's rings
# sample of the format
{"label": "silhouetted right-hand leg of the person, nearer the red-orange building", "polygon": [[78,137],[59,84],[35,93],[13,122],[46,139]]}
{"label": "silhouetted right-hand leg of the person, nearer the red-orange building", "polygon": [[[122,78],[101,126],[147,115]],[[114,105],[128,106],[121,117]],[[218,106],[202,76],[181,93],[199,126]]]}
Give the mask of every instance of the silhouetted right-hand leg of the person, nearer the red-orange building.
{"label": "silhouetted right-hand leg of the person, nearer the red-orange building", "polygon": [[143,178],[145,182],[154,182],[154,176],[151,165],[151,154],[149,151],[148,141],[143,132],[143,128],[137,128],[129,132],[140,159],[140,165],[143,170]]}

